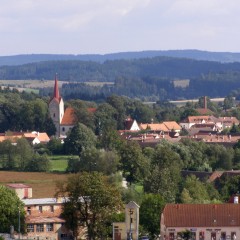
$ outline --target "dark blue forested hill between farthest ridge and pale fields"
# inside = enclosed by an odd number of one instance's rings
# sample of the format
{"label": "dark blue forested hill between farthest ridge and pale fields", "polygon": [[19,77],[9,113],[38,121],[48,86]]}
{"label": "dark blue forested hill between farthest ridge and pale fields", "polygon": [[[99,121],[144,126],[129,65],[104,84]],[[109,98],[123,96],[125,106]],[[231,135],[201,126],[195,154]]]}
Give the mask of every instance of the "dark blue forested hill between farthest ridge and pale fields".
{"label": "dark blue forested hill between farthest ridge and pale fields", "polygon": [[[209,74],[235,75],[240,73],[240,63],[219,63],[171,57],[114,60],[104,63],[90,61],[48,61],[20,66],[0,67],[0,79],[59,79],[70,82],[113,82],[118,77],[128,78],[196,78]],[[234,77],[235,77],[234,75]],[[226,81],[231,80],[226,79]]]}

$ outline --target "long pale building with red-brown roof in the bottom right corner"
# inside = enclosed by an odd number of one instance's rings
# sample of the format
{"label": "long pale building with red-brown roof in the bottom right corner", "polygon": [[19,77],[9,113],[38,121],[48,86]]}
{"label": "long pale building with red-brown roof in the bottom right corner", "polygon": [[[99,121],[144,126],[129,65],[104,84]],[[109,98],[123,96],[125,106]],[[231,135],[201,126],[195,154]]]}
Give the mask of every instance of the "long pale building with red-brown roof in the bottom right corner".
{"label": "long pale building with red-brown roof in the bottom right corner", "polygon": [[195,240],[236,240],[240,238],[240,204],[167,204],[160,227],[162,239],[188,234]]}

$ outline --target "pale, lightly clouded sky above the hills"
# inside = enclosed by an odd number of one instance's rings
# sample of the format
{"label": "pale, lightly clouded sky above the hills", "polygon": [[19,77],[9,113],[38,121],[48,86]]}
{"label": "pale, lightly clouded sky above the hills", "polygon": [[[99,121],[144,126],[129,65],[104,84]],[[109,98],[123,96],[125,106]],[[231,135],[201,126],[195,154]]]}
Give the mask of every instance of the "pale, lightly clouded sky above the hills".
{"label": "pale, lightly clouded sky above the hills", "polygon": [[0,0],[0,56],[240,52],[239,0]]}

